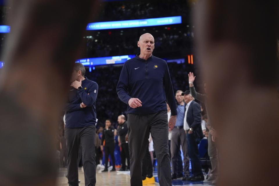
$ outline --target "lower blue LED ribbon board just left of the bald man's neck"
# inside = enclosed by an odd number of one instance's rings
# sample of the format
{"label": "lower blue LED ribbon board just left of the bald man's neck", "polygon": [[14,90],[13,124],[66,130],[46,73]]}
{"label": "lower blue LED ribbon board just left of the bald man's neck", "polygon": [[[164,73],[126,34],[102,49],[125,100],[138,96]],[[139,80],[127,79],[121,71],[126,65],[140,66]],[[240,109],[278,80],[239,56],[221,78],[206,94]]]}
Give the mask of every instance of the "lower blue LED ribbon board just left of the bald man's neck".
{"label": "lower blue LED ribbon board just left of the bald man's neck", "polygon": [[112,64],[124,63],[127,60],[134,57],[135,55],[110,56],[110,57],[101,57],[101,58],[85,58],[85,59],[77,60],[76,63],[81,63],[84,66],[112,65]]}

